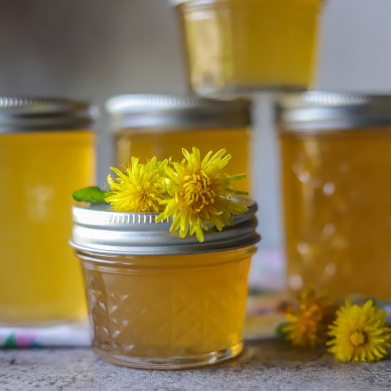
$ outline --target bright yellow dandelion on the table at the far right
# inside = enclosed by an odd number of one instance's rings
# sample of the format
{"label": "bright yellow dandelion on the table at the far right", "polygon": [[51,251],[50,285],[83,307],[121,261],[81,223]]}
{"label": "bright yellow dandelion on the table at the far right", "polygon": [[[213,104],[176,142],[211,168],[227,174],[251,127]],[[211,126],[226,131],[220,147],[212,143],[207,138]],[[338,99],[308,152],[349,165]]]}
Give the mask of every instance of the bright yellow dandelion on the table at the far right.
{"label": "bright yellow dandelion on the table at the far right", "polygon": [[374,361],[387,355],[391,347],[391,328],[385,321],[386,311],[373,305],[372,300],[363,306],[346,301],[337,311],[330,326],[328,351],[342,361]]}

